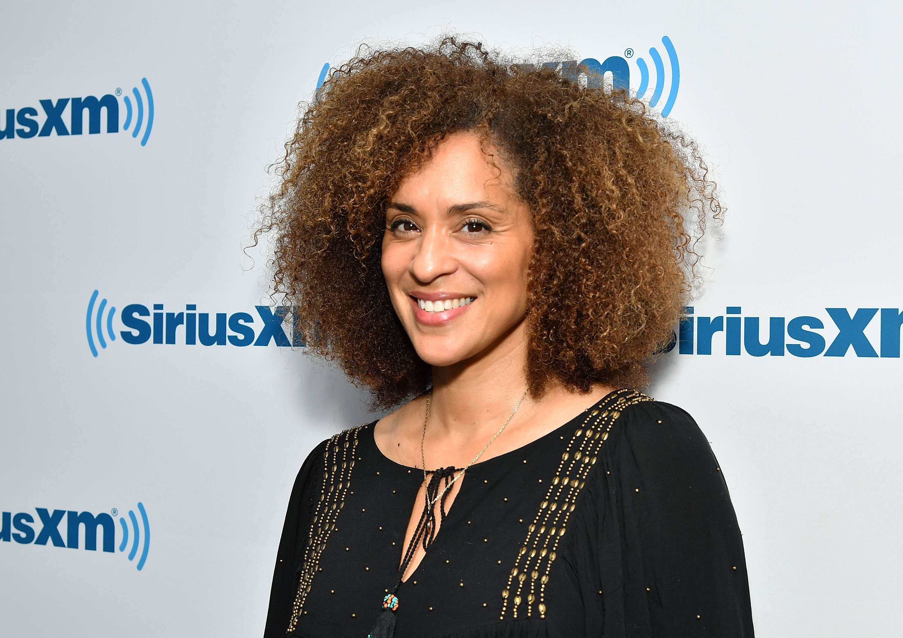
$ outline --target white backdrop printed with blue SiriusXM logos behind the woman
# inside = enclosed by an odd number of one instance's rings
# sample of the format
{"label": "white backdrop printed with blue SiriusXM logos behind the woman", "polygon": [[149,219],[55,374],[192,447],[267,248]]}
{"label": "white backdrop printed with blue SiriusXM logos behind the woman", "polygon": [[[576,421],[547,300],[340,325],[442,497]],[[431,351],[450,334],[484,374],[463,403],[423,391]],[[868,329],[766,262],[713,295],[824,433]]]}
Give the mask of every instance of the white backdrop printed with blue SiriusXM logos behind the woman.
{"label": "white backdrop printed with blue SiriusXM logos behind the woman", "polygon": [[[761,636],[903,634],[897,5],[0,5],[0,635],[253,636],[285,503],[375,418],[247,249],[330,65],[562,46],[695,136],[725,224],[650,393],[691,412]],[[378,415],[377,415],[378,416]]]}

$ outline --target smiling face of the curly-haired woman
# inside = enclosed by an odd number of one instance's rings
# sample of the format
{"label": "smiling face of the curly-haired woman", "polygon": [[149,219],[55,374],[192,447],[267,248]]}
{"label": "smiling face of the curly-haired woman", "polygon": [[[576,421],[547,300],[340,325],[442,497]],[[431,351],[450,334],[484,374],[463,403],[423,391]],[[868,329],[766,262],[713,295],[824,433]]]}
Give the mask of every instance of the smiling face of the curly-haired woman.
{"label": "smiling face of the curly-haired woman", "polygon": [[472,133],[447,136],[386,209],[382,268],[396,314],[433,366],[523,332],[533,224],[512,175]]}

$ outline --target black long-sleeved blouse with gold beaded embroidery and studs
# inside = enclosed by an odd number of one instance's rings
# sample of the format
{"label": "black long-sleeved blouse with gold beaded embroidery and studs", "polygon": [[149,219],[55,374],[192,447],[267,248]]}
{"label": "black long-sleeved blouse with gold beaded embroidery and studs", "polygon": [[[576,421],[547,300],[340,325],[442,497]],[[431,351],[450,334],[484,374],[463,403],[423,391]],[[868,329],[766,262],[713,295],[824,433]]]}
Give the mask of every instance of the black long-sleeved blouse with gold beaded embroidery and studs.
{"label": "black long-sleeved blouse with gold beaded embroidery and studs", "polygon": [[[366,638],[381,612],[424,476],[379,451],[374,425],[324,441],[298,473],[265,638]],[[708,441],[628,389],[472,465],[397,596],[396,638],[753,635]]]}

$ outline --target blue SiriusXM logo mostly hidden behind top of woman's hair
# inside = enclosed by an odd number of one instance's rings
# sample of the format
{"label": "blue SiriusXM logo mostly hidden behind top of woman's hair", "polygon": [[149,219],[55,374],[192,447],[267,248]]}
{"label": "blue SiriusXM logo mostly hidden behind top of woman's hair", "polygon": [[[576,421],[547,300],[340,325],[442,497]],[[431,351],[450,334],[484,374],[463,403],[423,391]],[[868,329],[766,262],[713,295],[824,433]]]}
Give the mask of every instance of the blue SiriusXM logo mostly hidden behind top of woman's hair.
{"label": "blue SiriusXM logo mostly hidden behind top of woman's hair", "polygon": [[[668,117],[671,109],[675,106],[677,99],[677,89],[680,88],[680,62],[677,60],[677,52],[671,38],[664,36],[662,44],[668,54],[668,61],[671,63],[671,87],[668,89],[668,97],[665,100],[665,106],[662,107],[662,117]],[[612,55],[605,61],[598,61],[595,58],[587,58],[581,62],[576,60],[563,62],[546,62],[545,66],[560,71],[565,77],[576,78],[577,69],[582,65],[588,71],[587,86],[599,88],[605,79],[606,73],[611,73],[611,88],[616,90],[630,90],[630,64],[627,58],[633,58],[633,49],[627,49],[624,52],[625,57]],[[649,106],[656,108],[658,102],[665,94],[665,62],[662,60],[661,53],[655,47],[649,49],[649,57],[655,66],[656,74],[654,79],[654,87],[652,94],[649,96]],[[637,69],[639,70],[639,87],[636,92],[638,99],[644,99],[649,89],[650,72],[646,61],[643,58],[637,58]],[[531,65],[530,68],[533,68]],[[330,70],[329,62],[323,65],[320,70],[320,77],[317,79],[317,89],[323,85],[326,80],[326,74]]]}

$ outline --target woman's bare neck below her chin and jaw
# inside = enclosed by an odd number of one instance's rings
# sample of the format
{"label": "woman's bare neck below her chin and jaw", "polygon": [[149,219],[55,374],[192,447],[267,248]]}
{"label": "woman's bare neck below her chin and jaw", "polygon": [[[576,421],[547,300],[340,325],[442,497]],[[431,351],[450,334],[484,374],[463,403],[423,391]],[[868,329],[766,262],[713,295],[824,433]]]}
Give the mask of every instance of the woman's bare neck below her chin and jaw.
{"label": "woman's bare neck below her chin and jaw", "polygon": [[[479,355],[433,367],[430,426],[452,436],[496,431],[526,390],[526,322],[517,324]],[[520,409],[526,407],[529,398]]]}

